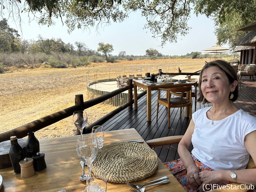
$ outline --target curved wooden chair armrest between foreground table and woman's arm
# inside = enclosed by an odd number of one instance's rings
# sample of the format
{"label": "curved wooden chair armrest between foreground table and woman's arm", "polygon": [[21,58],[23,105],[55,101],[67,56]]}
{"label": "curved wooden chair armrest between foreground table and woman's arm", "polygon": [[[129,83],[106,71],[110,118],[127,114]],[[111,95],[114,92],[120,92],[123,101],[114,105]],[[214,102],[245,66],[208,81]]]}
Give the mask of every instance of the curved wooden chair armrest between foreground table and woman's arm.
{"label": "curved wooden chair armrest between foreground table and woman's arm", "polygon": [[157,138],[157,139],[152,139],[152,140],[146,141],[146,143],[149,145],[150,148],[153,148],[153,147],[157,147],[157,146],[179,143],[181,141],[182,137],[183,137],[183,135],[162,137],[162,138]]}

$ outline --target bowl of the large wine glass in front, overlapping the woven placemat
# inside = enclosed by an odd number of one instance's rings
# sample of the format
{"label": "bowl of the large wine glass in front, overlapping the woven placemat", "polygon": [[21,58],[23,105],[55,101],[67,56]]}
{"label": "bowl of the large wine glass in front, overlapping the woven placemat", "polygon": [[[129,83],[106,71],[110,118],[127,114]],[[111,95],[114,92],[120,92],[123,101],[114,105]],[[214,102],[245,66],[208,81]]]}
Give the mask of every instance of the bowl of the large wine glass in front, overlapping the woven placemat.
{"label": "bowl of the large wine glass in front, overlapping the woven placemat", "polygon": [[[92,162],[98,154],[97,137],[93,134],[82,135],[77,140],[77,154],[80,159],[91,169]],[[83,188],[86,190],[86,186]]]}

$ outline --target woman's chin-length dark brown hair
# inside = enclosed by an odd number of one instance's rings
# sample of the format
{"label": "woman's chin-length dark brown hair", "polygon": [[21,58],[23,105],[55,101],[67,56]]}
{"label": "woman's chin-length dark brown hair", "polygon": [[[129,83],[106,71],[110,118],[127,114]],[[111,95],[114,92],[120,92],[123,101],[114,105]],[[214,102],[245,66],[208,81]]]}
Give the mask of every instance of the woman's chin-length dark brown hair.
{"label": "woman's chin-length dark brown hair", "polygon": [[[203,99],[204,97],[203,97],[203,93],[201,90],[202,74],[206,68],[211,67],[211,66],[216,66],[216,67],[220,68],[222,71],[224,71],[225,74],[227,75],[227,78],[229,79],[230,84],[233,83],[235,80],[238,81],[238,83],[239,83],[238,76],[237,76],[235,70],[232,68],[232,66],[227,61],[214,60],[214,61],[210,61],[210,62],[206,63],[200,71],[199,82],[198,82],[199,93],[198,93],[198,97],[197,97],[197,102],[200,102],[202,104],[209,103],[206,99]],[[231,99],[231,101],[234,102],[238,98],[238,85],[236,86],[235,90],[232,93],[233,93],[234,97]],[[231,95],[231,92],[229,93],[229,97],[230,97],[230,95]]]}

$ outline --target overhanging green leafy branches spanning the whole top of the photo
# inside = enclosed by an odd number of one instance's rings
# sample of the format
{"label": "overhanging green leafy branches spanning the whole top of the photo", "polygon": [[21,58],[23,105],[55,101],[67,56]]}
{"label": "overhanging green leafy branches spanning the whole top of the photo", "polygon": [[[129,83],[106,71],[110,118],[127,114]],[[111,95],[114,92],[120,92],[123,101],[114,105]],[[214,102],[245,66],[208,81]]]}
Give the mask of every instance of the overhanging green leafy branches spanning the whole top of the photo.
{"label": "overhanging green leafy branches spanning the whole top of the photo", "polygon": [[[0,0],[0,3],[10,14],[15,13],[13,9],[21,9],[20,0]],[[246,33],[238,32],[237,35],[235,31],[256,20],[255,0],[25,0],[24,6],[25,11],[39,14],[39,23],[43,25],[53,25],[52,18],[62,20],[65,15],[63,22],[69,32],[76,27],[122,22],[130,12],[140,11],[147,21],[144,28],[153,34],[152,37],[160,37],[162,46],[167,41],[176,42],[177,36],[188,33],[187,21],[192,11],[213,18],[219,44],[228,42],[231,47]]]}

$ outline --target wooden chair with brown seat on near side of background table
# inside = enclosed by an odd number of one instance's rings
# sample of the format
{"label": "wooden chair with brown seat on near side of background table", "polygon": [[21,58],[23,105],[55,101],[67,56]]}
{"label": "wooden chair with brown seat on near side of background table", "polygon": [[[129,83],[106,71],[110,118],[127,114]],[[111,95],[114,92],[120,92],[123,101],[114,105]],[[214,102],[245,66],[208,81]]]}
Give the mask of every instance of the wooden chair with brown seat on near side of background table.
{"label": "wooden chair with brown seat on near side of background table", "polygon": [[[160,98],[160,90],[164,90],[167,92],[167,98]],[[172,97],[171,92],[181,92],[181,96]],[[170,128],[170,108],[180,107],[180,114],[182,107],[189,107],[189,120],[192,118],[192,97],[191,97],[191,87],[177,87],[177,88],[169,88],[163,89],[158,88],[158,99],[157,99],[157,120],[158,120],[158,108],[159,104],[164,105],[168,108],[168,128]]]}

